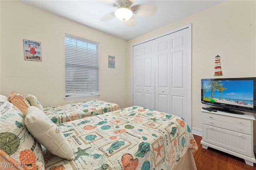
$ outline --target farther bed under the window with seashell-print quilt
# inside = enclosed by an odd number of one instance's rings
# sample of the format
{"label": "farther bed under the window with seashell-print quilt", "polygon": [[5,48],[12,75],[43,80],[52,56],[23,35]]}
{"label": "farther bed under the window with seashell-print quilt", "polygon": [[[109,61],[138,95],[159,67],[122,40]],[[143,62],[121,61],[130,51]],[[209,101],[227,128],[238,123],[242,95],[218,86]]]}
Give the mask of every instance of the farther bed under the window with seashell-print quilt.
{"label": "farther bed under the window with seashell-print quilt", "polygon": [[120,109],[120,107],[116,103],[109,103],[101,100],[90,100],[79,103],[44,107],[44,113],[52,120],[53,123],[59,124],[82,119],[84,117],[101,115],[118,109]]}

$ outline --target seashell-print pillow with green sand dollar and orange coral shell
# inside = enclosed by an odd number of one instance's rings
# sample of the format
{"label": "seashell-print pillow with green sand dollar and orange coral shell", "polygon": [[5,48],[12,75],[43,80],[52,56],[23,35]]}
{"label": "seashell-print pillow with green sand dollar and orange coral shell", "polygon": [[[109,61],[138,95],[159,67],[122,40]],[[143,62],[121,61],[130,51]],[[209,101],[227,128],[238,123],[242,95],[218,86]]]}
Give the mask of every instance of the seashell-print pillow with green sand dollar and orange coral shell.
{"label": "seashell-print pillow with green sand dollar and orange coral shell", "polygon": [[26,128],[22,112],[0,97],[0,113],[1,163],[28,164],[28,169],[45,169],[42,146]]}

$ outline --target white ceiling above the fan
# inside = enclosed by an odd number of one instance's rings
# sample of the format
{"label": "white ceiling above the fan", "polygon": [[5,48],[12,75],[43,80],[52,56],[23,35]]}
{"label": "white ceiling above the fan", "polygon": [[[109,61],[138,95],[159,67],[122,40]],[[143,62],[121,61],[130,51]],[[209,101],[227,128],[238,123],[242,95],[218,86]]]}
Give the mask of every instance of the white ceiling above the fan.
{"label": "white ceiling above the fan", "polygon": [[102,21],[104,17],[113,16],[113,12],[117,9],[112,6],[115,0],[21,1],[125,40],[131,40],[223,2],[223,0],[130,0],[133,2],[132,6],[155,4],[158,8],[154,16],[137,16],[134,14],[136,25],[128,27],[123,21],[115,17]]}

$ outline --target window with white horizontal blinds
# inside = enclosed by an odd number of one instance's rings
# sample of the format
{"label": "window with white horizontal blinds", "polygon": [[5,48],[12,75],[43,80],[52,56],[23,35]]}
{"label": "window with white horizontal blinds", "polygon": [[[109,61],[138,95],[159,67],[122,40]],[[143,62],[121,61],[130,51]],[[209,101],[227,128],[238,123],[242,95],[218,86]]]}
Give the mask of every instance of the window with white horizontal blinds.
{"label": "window with white horizontal blinds", "polygon": [[65,34],[65,99],[99,96],[99,43]]}

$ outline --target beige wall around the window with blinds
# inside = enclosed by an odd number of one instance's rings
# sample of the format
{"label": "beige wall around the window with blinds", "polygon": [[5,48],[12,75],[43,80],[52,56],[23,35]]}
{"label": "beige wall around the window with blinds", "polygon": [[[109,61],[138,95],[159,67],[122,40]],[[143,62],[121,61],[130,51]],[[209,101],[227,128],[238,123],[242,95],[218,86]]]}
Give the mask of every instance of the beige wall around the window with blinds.
{"label": "beige wall around the window with blinds", "polygon": [[[0,93],[35,95],[44,106],[84,101],[64,100],[65,33],[100,42],[100,97],[96,99],[128,107],[125,40],[17,1],[1,1]],[[24,60],[24,39],[41,42],[41,62]],[[108,55],[116,57],[115,69],[108,68]]]}

